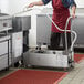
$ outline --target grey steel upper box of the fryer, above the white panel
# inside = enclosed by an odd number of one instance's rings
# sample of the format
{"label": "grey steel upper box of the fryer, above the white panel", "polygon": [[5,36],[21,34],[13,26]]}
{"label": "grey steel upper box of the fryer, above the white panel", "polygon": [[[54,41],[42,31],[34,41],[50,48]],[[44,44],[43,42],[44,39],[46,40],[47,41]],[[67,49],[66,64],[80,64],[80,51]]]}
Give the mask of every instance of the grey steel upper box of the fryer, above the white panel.
{"label": "grey steel upper box of the fryer, above the white panel", "polygon": [[31,17],[15,17],[12,25],[14,31],[29,30],[31,28]]}

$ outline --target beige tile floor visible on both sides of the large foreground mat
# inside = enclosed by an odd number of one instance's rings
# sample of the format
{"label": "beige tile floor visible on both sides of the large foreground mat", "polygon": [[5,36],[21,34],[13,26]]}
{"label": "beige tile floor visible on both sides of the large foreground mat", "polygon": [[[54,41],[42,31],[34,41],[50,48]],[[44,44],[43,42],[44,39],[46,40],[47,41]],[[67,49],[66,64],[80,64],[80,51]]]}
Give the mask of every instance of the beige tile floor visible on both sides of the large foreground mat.
{"label": "beige tile floor visible on both sides of the large foreground mat", "polygon": [[[9,71],[1,71],[0,78],[17,70],[18,69],[10,67]],[[69,71],[69,74],[59,84],[84,84],[84,61],[78,64],[75,63],[75,67]]]}

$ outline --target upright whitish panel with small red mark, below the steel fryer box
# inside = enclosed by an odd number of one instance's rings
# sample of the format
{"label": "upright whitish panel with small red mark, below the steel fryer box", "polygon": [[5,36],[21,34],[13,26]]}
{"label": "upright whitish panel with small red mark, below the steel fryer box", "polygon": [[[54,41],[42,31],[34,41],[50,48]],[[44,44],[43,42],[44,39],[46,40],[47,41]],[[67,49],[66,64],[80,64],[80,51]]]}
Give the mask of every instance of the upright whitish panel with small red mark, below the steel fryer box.
{"label": "upright whitish panel with small red mark, below the steel fryer box", "polygon": [[12,35],[12,63],[19,62],[23,53],[23,32],[14,32]]}

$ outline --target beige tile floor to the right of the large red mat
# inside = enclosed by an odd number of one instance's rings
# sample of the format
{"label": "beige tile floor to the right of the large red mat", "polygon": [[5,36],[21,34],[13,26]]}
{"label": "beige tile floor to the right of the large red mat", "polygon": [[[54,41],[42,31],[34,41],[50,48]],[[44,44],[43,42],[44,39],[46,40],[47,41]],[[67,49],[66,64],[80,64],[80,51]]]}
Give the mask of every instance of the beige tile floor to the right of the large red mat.
{"label": "beige tile floor to the right of the large red mat", "polygon": [[75,67],[59,84],[84,84],[84,61],[75,64]]}

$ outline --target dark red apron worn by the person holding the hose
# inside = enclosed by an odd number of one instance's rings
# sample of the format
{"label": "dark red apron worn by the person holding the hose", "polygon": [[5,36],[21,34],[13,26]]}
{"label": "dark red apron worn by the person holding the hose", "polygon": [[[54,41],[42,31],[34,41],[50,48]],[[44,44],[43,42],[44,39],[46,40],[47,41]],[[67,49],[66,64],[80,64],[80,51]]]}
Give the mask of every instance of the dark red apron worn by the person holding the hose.
{"label": "dark red apron worn by the person holding the hose", "polygon": [[[70,11],[62,4],[62,0],[52,0],[53,6],[53,15],[52,20],[57,24],[60,29],[65,29],[65,23],[67,18],[70,17]],[[69,23],[67,29],[70,30],[71,23]],[[60,32],[54,24],[52,23],[52,32]]]}

